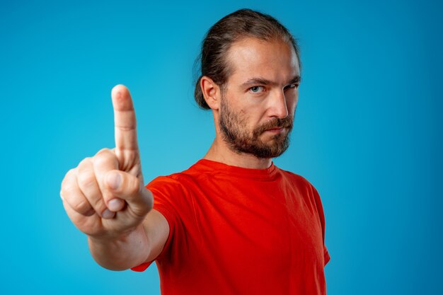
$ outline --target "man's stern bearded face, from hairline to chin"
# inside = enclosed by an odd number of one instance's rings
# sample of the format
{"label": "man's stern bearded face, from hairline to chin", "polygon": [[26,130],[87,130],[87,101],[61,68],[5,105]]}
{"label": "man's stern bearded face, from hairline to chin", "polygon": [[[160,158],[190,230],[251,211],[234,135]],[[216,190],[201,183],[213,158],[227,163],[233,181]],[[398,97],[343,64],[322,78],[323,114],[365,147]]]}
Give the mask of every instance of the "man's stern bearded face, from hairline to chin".
{"label": "man's stern bearded face, from hairline to chin", "polygon": [[219,126],[231,150],[257,158],[280,156],[298,100],[299,64],[292,45],[245,38],[227,60],[231,75],[222,90]]}

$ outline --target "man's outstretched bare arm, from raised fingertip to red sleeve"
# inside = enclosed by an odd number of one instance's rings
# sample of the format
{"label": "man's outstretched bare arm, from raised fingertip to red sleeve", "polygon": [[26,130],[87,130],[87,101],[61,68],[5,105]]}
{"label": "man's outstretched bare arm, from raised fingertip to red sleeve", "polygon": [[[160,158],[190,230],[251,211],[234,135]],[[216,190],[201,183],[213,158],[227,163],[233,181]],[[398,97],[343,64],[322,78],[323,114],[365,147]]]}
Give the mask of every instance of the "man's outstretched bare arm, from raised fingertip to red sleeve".
{"label": "man's outstretched bare arm, from raised fingertip to red sleeve", "polygon": [[154,198],[144,187],[130,92],[115,86],[112,98],[115,149],[102,149],[69,170],[60,196],[71,221],[88,236],[98,264],[125,270],[154,260],[169,226],[152,210]]}

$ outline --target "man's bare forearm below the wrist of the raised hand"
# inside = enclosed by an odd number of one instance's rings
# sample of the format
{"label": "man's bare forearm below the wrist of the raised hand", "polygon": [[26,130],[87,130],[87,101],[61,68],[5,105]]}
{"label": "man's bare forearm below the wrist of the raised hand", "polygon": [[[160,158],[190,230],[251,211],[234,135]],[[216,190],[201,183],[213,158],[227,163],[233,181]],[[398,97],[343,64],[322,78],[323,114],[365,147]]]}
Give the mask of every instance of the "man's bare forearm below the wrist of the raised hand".
{"label": "man's bare forearm below the wrist of the raised hand", "polygon": [[149,245],[142,226],[115,239],[88,236],[94,260],[108,270],[127,270],[140,265],[149,256]]}

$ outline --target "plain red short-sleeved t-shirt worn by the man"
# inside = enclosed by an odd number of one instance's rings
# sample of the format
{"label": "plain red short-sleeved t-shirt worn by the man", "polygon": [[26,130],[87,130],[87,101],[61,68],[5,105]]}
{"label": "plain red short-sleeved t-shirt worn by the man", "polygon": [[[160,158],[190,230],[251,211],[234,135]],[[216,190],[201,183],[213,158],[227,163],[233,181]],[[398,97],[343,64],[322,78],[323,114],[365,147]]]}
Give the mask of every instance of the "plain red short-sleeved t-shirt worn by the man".
{"label": "plain red short-sleeved t-shirt worn by the man", "polygon": [[146,187],[170,227],[161,294],[326,294],[323,207],[300,175],[200,160]]}

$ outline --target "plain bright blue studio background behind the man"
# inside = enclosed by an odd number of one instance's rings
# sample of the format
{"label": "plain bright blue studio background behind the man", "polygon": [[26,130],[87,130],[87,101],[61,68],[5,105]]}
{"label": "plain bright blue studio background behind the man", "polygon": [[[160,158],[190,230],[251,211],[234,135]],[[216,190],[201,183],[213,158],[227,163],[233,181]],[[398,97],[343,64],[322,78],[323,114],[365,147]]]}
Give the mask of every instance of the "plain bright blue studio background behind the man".
{"label": "plain bright blue studio background behind the man", "polygon": [[212,142],[192,64],[238,8],[299,39],[292,146],[326,212],[328,294],[443,294],[442,5],[439,1],[1,1],[1,294],[159,294],[155,267],[93,261],[59,187],[113,147],[110,90],[137,110],[145,181],[188,168]]}

